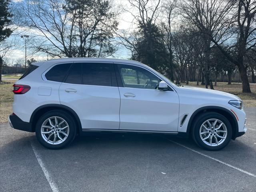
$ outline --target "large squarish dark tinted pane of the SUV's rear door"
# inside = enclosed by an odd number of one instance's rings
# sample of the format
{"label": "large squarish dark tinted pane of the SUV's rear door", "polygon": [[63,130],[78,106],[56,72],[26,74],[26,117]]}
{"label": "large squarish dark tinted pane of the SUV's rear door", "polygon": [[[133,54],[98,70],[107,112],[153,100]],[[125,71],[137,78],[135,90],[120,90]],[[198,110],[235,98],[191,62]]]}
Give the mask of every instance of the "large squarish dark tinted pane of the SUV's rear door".
{"label": "large squarish dark tinted pane of the SUV's rear door", "polygon": [[108,63],[83,63],[83,84],[112,86],[111,70]]}

